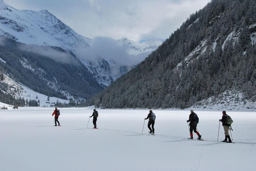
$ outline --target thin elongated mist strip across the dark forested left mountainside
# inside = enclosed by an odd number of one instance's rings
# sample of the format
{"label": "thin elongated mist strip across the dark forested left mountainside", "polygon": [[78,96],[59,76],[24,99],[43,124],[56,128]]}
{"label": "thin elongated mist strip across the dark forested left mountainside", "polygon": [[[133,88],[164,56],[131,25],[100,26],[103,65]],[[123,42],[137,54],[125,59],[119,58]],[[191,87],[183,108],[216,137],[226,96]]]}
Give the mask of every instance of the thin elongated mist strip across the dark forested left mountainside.
{"label": "thin elongated mist strip across the dark forested left mountainside", "polygon": [[75,63],[72,55],[70,55],[68,52],[64,52],[64,51],[62,52],[50,46],[37,46],[37,45],[24,44],[24,45],[20,45],[19,49],[26,52],[32,52],[38,55],[48,57],[50,59],[55,60],[56,62]]}

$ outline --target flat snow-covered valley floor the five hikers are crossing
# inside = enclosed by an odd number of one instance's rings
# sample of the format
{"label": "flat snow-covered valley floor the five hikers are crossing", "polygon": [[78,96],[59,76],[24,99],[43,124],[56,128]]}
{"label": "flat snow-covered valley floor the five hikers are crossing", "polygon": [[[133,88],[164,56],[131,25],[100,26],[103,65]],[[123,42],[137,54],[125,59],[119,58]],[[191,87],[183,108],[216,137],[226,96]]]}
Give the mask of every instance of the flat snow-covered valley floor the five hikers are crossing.
{"label": "flat snow-covered valley floor the five hikers are crossing", "polygon": [[[155,134],[149,135],[148,110],[60,109],[61,127],[54,127],[54,108],[0,110],[0,170],[253,170],[256,113],[228,111],[233,143],[217,142],[221,111],[195,111],[205,141],[187,140],[189,111],[153,110]],[[194,136],[196,137],[196,136]],[[219,140],[224,131],[220,126]]]}

